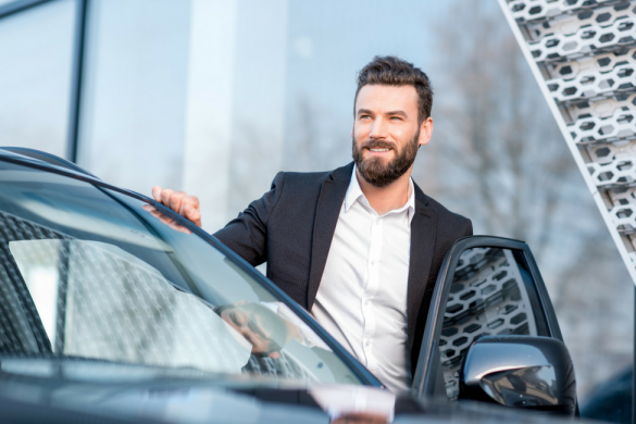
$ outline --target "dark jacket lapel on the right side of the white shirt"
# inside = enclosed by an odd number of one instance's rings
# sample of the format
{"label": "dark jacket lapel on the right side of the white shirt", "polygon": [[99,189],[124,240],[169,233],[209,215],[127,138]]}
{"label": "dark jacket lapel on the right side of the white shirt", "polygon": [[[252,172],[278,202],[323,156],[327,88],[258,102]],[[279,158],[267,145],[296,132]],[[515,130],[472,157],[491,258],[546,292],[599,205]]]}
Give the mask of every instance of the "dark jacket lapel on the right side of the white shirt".
{"label": "dark jacket lapel on the right side of the white shirt", "polygon": [[[409,260],[409,279],[407,291],[407,332],[409,350],[413,352],[415,327],[426,291],[426,282],[431,273],[435,248],[436,212],[428,207],[424,192],[415,186],[415,215],[411,221],[411,257]],[[425,319],[425,317],[424,317]],[[421,320],[423,322],[423,320]],[[422,329],[420,328],[420,332]],[[419,347],[417,347],[419,348]],[[419,349],[415,349],[419,351]],[[415,362],[412,362],[413,369]]]}

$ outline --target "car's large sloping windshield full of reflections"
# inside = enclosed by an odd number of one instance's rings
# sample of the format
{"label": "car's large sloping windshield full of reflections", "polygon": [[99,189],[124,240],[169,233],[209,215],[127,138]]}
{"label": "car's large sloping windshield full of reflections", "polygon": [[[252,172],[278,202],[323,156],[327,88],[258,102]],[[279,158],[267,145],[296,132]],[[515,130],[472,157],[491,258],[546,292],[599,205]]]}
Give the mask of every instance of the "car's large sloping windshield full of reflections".
{"label": "car's large sloping windshield full of reflections", "polygon": [[145,204],[0,162],[3,358],[360,384],[258,278]]}

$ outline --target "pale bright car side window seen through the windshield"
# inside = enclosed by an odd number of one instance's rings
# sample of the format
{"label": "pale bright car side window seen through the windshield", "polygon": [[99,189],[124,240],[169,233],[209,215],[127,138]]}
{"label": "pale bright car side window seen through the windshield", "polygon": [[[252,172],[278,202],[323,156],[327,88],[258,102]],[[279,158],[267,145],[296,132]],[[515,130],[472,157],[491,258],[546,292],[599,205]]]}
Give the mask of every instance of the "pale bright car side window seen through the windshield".
{"label": "pale bright car side window seen through the windshield", "polygon": [[[213,307],[175,289],[121,249],[103,246],[60,239],[9,242],[55,351],[240,373],[251,346]],[[63,313],[58,316],[58,311]]]}

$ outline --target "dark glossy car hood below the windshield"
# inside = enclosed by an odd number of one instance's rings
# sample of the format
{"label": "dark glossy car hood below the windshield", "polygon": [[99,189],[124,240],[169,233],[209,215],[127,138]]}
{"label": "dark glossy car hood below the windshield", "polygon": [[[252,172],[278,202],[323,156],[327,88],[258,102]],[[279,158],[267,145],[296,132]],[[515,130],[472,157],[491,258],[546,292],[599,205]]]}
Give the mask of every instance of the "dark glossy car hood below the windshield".
{"label": "dark glossy car hood below the windshield", "polygon": [[99,423],[554,422],[553,415],[352,385],[211,376],[86,360],[2,358],[0,420]]}

